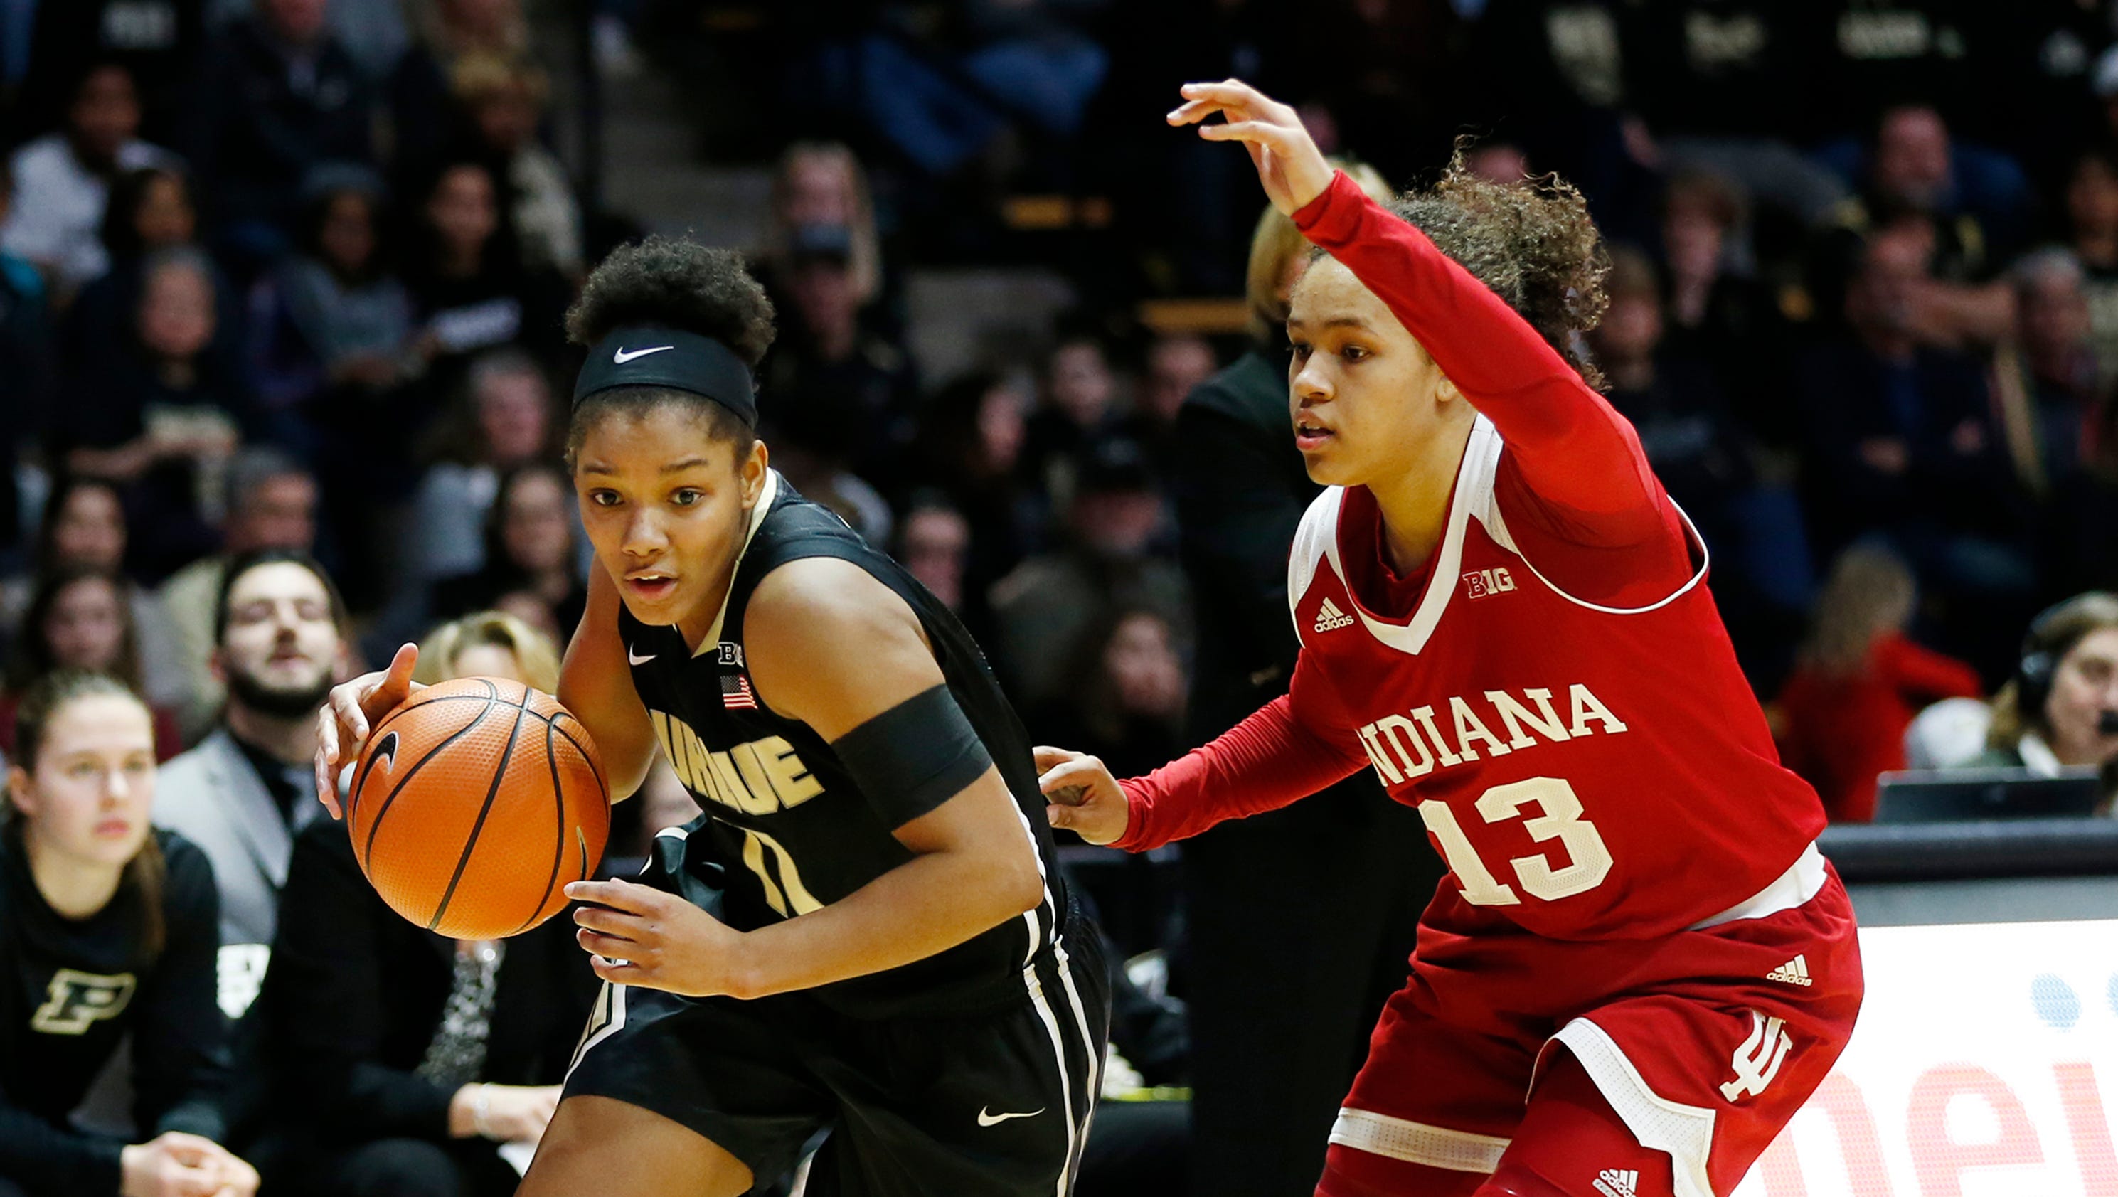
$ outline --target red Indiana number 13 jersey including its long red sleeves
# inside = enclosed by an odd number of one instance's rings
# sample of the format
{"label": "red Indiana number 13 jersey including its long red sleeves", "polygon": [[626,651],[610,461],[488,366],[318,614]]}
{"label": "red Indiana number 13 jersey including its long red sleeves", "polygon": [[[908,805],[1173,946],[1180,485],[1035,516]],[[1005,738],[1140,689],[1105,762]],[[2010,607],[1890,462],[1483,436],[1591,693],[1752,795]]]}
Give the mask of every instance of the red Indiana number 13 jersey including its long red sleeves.
{"label": "red Indiana number 13 jersey including its long red sleeves", "polygon": [[1396,578],[1364,487],[1303,519],[1290,693],[1125,782],[1123,847],[1296,801],[1360,767],[1417,807],[1442,881],[1550,939],[1713,922],[1824,828],[1779,765],[1705,547],[1631,424],[1500,297],[1343,176],[1296,222],[1478,409],[1442,542]]}

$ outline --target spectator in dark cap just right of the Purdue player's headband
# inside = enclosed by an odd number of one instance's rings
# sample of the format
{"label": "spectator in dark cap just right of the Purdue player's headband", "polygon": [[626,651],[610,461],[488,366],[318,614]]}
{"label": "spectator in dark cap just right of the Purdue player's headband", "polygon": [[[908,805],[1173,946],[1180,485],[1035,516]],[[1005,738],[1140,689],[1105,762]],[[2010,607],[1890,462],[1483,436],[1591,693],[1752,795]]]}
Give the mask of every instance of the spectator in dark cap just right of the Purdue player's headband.
{"label": "spectator in dark cap just right of the Purdue player's headband", "polygon": [[767,364],[775,443],[877,475],[911,441],[911,358],[862,326],[854,231],[805,225],[779,258],[779,339]]}

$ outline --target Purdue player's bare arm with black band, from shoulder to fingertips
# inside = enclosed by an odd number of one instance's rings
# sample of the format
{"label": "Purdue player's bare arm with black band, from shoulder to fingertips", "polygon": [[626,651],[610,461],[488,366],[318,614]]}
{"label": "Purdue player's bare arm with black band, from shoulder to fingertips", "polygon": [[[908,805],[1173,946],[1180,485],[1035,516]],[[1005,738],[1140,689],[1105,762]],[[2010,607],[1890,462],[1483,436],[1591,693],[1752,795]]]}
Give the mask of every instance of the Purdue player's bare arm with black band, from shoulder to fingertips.
{"label": "Purdue player's bare arm with black band, from shoulder to fingertips", "polygon": [[580,945],[604,958],[599,977],[686,996],[811,989],[926,960],[1042,900],[1015,797],[983,744],[966,739],[934,650],[890,587],[830,557],[786,564],[752,593],[743,648],[758,701],[832,744],[911,860],[754,932],[661,890],[568,886],[614,907],[574,915]]}

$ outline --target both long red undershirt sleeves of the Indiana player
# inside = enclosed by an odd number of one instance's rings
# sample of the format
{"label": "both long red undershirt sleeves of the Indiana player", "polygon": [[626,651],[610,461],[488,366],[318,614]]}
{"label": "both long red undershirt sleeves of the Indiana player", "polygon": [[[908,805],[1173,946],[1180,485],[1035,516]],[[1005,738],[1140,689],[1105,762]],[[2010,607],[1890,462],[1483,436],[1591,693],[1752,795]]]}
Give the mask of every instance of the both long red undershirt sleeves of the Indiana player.
{"label": "both long red undershirt sleeves of the Indiana player", "polygon": [[[1569,593],[1629,606],[1690,576],[1682,521],[1633,426],[1504,299],[1345,174],[1294,225],[1353,271],[1500,430],[1495,498],[1516,547]],[[1330,682],[1296,659],[1288,695],[1146,778],[1118,847],[1144,852],[1279,809],[1366,765]]]}

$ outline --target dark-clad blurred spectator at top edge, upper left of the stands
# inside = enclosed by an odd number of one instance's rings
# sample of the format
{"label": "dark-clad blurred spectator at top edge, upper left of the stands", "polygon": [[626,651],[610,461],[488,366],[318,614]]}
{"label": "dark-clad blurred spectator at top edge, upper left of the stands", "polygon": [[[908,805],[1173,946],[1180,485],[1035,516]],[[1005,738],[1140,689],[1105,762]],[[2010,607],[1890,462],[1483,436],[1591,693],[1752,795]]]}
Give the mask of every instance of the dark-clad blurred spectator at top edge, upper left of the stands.
{"label": "dark-clad blurred spectator at top edge, upper left of the stands", "polygon": [[201,68],[191,159],[214,195],[214,244],[246,278],[292,244],[309,172],[373,157],[373,93],[324,8],[256,0]]}

